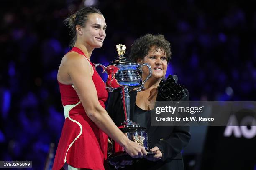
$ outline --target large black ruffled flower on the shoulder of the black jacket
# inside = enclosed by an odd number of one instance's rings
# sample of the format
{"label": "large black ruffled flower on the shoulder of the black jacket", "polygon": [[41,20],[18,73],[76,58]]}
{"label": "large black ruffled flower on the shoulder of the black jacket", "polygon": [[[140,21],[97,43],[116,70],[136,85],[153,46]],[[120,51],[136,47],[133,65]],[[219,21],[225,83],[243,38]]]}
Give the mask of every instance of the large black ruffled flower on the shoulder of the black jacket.
{"label": "large black ruffled flower on the shoulder of the black jacket", "polygon": [[187,96],[185,86],[177,84],[177,75],[169,75],[166,80],[161,80],[157,90],[158,94],[168,101],[179,101]]}

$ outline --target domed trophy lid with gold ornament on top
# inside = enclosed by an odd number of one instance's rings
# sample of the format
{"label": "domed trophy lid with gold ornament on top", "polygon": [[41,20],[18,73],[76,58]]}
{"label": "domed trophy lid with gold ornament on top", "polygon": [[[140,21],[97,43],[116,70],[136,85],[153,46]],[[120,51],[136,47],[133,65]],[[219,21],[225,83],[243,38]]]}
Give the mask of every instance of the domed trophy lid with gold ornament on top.
{"label": "domed trophy lid with gold ornament on top", "polygon": [[[116,58],[115,60],[113,60],[109,65],[126,65],[126,64],[129,64],[129,65],[138,65],[137,62],[133,61],[133,60],[129,60],[129,58],[125,57],[124,54],[125,54],[125,49],[126,49],[126,46],[125,45],[122,45],[122,44],[118,44],[115,46],[116,47],[116,50],[118,52],[118,55],[119,57]],[[109,66],[108,65],[108,66]]]}

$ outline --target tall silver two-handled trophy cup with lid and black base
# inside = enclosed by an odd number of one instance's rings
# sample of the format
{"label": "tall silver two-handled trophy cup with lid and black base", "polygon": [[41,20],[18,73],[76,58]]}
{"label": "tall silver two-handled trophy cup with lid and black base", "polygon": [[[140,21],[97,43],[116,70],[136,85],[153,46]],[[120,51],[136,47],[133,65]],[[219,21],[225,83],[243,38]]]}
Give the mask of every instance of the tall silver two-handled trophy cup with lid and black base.
{"label": "tall silver two-handled trophy cup with lid and black base", "polygon": [[[152,74],[152,69],[149,64],[139,64],[137,62],[131,61],[124,57],[125,45],[118,44],[116,49],[119,57],[113,60],[107,67],[102,64],[96,64],[103,68],[103,73],[108,74],[108,79],[106,81],[106,88],[109,92],[113,92],[115,89],[120,89],[122,94],[123,110],[125,114],[125,120],[119,127],[120,130],[127,135],[127,137],[138,143],[139,145],[145,147],[148,153],[151,153],[148,148],[148,134],[145,127],[141,127],[139,124],[130,120],[130,96],[129,92],[136,88],[139,92],[144,90],[144,84],[149,79]],[[139,71],[142,71],[142,67],[147,66],[149,70],[149,75],[144,81],[142,81]],[[119,161],[119,160],[130,160],[131,157],[125,152],[124,148],[121,147],[115,141],[112,141],[113,154],[108,157],[109,161]],[[151,153],[154,154],[154,153]]]}

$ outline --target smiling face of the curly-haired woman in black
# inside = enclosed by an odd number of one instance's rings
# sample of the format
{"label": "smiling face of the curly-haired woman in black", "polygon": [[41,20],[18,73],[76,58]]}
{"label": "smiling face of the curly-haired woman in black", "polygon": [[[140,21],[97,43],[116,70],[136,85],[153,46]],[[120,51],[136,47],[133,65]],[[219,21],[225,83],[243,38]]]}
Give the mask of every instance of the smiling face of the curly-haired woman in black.
{"label": "smiling face of the curly-haired woman in black", "polygon": [[[161,48],[155,48],[155,46],[152,46],[148,52],[148,55],[146,55],[143,58],[143,61],[140,61],[138,59],[138,62],[140,63],[148,63],[150,64],[152,68],[152,75],[151,77],[154,77],[156,79],[161,79],[162,77],[165,76],[166,70],[167,70],[167,60],[166,60],[166,52],[161,50]],[[143,73],[142,77],[148,76],[148,68],[143,67],[142,68]]]}

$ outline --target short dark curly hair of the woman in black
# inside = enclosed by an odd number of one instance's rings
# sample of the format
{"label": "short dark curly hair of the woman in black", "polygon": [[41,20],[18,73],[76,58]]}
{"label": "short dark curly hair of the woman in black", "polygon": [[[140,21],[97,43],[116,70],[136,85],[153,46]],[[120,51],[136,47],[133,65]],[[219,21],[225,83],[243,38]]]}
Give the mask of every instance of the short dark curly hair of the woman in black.
{"label": "short dark curly hair of the woman in black", "polygon": [[171,45],[162,34],[146,34],[135,40],[131,46],[131,50],[129,51],[129,58],[136,62],[138,59],[143,60],[144,57],[148,55],[150,48],[153,46],[155,46],[156,51],[161,49],[166,52],[167,62],[171,60]]}

